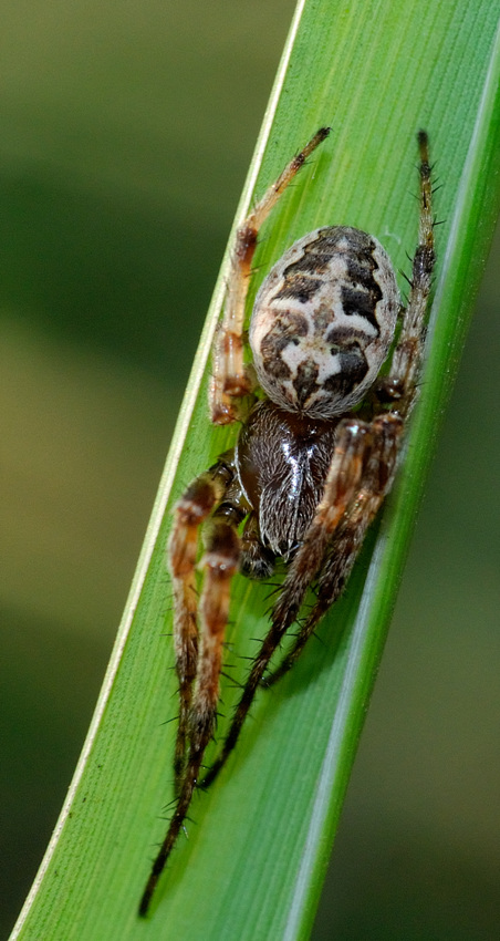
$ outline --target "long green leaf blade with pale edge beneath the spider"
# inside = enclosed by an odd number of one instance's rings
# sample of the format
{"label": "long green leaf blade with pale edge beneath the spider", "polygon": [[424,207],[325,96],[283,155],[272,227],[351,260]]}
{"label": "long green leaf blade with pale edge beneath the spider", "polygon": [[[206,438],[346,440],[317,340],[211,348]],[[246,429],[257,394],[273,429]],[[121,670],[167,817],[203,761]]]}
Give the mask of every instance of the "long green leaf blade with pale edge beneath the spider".
{"label": "long green leaf blade with pale edge beneath the spider", "polygon": [[[180,840],[147,922],[136,916],[158,819],[171,797],[176,682],[168,639],[167,507],[233,441],[207,422],[216,289],[173,451],[77,777],[14,938],[295,939],[312,923],[356,742],[382,653],[423,478],[449,394],[498,211],[497,18],[489,2],[300,4],[239,218],[317,126],[333,133],[263,234],[252,285],[294,238],[356,225],[407,270],[416,242],[415,134],[430,135],[438,275],[429,355],[405,467],[348,589],[310,649],[259,696],[241,743]],[[271,123],[272,122],[272,123]],[[184,446],[184,449],[183,449]],[[171,493],[170,493],[171,488]],[[267,590],[237,579],[236,675],[265,631]],[[236,691],[223,689],[223,712]],[[221,720],[220,726],[223,727]]]}

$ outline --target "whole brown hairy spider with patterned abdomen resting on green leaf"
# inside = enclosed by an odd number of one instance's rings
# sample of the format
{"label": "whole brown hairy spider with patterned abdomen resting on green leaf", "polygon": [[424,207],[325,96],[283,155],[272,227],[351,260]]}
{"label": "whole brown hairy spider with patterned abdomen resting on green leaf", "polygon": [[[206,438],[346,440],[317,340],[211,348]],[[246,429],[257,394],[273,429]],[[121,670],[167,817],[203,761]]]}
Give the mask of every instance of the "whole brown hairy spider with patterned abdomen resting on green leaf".
{"label": "whole brown hairy spider with patterned abdomen resting on green leaf", "polygon": [[[250,321],[253,369],[243,362],[244,306],[262,223],[323,127],[284,168],[238,229],[210,382],[215,424],[241,421],[236,446],[186,489],[174,511],[169,567],[179,724],[176,806],[140,901],[145,916],[197,786],[208,786],[235,747],[260,685],[282,676],[341,594],[366,530],[390,489],[416,399],[435,262],[428,138],[420,154],[419,240],[406,309],[388,255],[347,226],[315,229],[292,245],[260,288]],[[381,368],[400,332],[388,372]],[[263,397],[244,414],[260,386]],[[361,406],[353,411],[355,406]],[[205,551],[197,565],[198,534]],[[244,524],[243,524],[244,520]],[[241,525],[242,529],[241,529]],[[241,530],[241,532],[240,532]],[[199,783],[213,737],[232,577],[269,579],[288,567],[219,756]],[[204,572],[201,596],[197,568]],[[296,621],[308,588],[315,602],[280,665],[270,661]]]}

